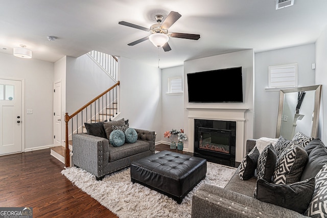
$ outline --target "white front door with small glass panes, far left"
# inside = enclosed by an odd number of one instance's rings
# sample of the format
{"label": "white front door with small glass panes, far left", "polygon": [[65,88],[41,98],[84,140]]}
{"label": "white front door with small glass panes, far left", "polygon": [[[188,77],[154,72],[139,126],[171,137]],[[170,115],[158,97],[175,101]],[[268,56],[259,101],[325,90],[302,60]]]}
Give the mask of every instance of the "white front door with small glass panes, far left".
{"label": "white front door with small glass panes, far left", "polygon": [[0,79],[0,155],[21,152],[21,81]]}

